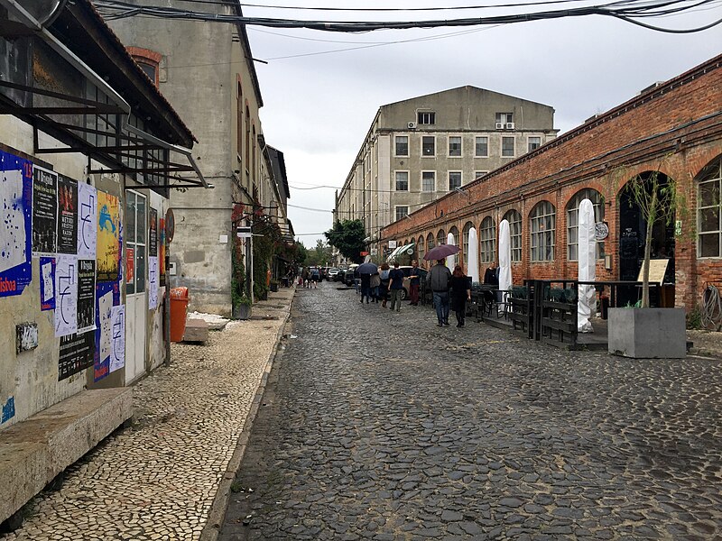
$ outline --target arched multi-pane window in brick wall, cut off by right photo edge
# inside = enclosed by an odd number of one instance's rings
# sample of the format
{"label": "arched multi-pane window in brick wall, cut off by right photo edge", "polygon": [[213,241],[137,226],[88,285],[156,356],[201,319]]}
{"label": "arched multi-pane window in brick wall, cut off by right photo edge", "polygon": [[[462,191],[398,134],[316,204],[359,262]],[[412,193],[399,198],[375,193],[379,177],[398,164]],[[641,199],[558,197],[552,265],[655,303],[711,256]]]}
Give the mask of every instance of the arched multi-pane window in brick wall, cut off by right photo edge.
{"label": "arched multi-pane window in brick wall, cut off by right photo edge", "polygon": [[698,190],[699,257],[722,257],[722,160],[705,168]]}

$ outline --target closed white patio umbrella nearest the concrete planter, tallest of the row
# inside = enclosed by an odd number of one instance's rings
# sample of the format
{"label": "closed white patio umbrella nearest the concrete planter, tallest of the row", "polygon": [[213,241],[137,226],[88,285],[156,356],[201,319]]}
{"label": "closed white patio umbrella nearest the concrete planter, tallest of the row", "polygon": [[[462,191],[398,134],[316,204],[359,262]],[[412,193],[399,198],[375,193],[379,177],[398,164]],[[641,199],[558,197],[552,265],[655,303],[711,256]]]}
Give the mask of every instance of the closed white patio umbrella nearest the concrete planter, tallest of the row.
{"label": "closed white patio umbrella nearest the concrete planter, tallest of the row", "polygon": [[[597,240],[595,239],[594,206],[588,199],[579,204],[579,281],[597,279]],[[597,313],[597,294],[594,286],[579,286],[577,301],[577,330],[593,333],[589,319]]]}

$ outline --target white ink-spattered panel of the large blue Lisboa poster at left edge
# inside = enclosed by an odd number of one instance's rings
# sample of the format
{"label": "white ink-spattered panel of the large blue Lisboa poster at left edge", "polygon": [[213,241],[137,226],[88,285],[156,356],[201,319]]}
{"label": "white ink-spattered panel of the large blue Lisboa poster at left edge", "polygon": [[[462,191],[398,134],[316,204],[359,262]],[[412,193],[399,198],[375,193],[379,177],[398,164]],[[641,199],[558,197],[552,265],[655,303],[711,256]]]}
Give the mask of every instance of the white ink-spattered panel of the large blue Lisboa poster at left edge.
{"label": "white ink-spattered panel of the large blue Lisboa poster at left edge", "polygon": [[3,226],[0,227],[0,272],[25,262],[25,231],[23,215],[23,173],[6,170],[0,175],[0,201]]}

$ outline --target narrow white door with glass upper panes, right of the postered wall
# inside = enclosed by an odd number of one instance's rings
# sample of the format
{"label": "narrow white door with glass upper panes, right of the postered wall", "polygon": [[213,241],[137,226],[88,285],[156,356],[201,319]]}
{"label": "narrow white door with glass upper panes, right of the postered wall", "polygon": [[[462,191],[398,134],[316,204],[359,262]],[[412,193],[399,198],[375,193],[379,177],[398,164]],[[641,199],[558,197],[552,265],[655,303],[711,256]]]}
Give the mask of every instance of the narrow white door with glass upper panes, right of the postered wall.
{"label": "narrow white door with glass upper panes, right of the postered wall", "polygon": [[125,192],[125,383],[145,373],[147,254],[145,196]]}

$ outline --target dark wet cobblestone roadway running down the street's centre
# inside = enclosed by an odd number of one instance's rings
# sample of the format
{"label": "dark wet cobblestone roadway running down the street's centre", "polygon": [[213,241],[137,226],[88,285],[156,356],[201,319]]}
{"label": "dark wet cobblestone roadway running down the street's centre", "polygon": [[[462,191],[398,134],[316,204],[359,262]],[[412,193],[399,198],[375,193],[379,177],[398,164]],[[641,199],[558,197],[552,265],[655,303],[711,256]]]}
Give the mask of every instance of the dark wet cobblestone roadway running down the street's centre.
{"label": "dark wet cobblestone roadway running down the street's centre", "polygon": [[722,362],[299,290],[220,538],[722,538]]}

